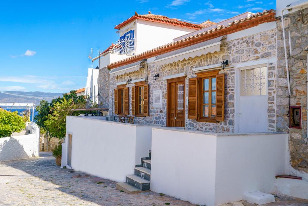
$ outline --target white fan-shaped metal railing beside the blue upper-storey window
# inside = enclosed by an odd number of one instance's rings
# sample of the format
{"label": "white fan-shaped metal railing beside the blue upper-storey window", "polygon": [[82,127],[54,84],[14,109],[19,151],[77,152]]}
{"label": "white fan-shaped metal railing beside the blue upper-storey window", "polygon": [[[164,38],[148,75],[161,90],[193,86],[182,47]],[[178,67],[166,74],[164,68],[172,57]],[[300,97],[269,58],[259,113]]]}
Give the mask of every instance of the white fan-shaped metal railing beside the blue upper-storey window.
{"label": "white fan-shaped metal railing beside the blue upper-storey window", "polygon": [[135,55],[136,54],[136,40],[132,38],[126,38],[118,40],[111,49],[111,53]]}

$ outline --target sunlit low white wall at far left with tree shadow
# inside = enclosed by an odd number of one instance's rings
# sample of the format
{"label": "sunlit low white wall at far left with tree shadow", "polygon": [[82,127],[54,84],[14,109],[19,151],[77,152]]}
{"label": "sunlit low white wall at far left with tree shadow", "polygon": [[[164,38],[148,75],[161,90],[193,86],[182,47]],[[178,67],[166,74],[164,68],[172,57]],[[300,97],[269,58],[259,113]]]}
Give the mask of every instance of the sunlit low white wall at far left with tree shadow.
{"label": "sunlit low white wall at far left with tree shadow", "polygon": [[39,157],[39,128],[32,126],[32,134],[0,138],[0,162]]}

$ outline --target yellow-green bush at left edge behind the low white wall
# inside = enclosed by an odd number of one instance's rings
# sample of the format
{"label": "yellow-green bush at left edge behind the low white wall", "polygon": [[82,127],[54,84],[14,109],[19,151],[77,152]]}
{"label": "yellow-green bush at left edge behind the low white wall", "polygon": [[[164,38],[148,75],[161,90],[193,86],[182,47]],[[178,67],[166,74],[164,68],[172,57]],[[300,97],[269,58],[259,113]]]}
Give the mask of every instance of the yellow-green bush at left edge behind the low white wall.
{"label": "yellow-green bush at left edge behind the low white wall", "polygon": [[10,137],[13,132],[20,132],[24,128],[25,123],[17,111],[0,109],[0,137]]}

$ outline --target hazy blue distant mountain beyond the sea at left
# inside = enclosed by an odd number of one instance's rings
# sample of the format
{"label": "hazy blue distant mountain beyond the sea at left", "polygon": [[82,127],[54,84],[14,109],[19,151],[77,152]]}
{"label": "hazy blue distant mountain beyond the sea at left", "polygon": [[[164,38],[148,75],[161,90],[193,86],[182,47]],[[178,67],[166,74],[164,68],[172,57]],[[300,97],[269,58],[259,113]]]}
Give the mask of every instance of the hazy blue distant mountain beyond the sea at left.
{"label": "hazy blue distant mountain beyond the sea at left", "polygon": [[[39,105],[39,102],[43,99],[50,102],[51,98],[62,97],[63,94],[41,91],[4,91],[4,93],[0,92],[0,103],[34,103]],[[5,106],[1,107],[6,108]]]}

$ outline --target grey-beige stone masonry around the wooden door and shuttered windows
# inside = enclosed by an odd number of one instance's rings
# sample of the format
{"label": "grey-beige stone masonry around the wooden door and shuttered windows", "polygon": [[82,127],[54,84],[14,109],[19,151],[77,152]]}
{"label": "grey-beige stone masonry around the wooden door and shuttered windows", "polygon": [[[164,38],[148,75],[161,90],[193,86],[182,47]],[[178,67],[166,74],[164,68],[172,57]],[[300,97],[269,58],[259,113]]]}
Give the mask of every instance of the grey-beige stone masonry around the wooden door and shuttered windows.
{"label": "grey-beige stone masonry around the wooden door and shuttered windows", "polygon": [[[243,37],[221,44],[220,52],[202,55],[201,57],[188,58],[183,61],[170,63],[168,65],[156,65],[148,63],[144,69],[117,77],[110,77],[109,91],[109,113],[114,114],[114,89],[116,82],[127,81],[148,77],[149,84],[149,116],[135,117],[135,124],[160,124],[166,125],[167,116],[167,81],[164,76],[186,72],[185,96],[188,97],[188,78],[196,77],[193,68],[221,63],[229,60],[229,67],[220,70],[225,73],[225,121],[219,123],[204,123],[188,119],[188,105],[185,103],[185,128],[207,132],[234,132],[234,107],[235,107],[235,70],[236,64],[276,57],[276,36],[277,30],[269,30],[255,35]],[[153,76],[159,73],[159,78],[155,81]],[[131,101],[131,87],[129,96]],[[162,90],[162,107],[152,106],[152,91]],[[186,102],[186,97],[184,101]],[[129,102],[131,114],[131,102]],[[276,63],[271,63],[268,67],[268,130],[276,130]]]}

